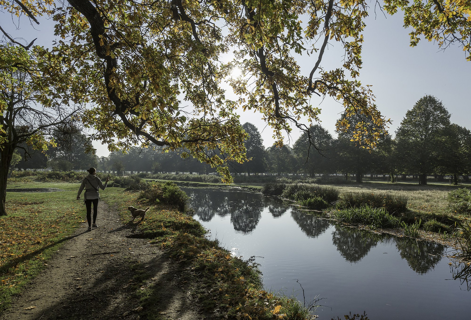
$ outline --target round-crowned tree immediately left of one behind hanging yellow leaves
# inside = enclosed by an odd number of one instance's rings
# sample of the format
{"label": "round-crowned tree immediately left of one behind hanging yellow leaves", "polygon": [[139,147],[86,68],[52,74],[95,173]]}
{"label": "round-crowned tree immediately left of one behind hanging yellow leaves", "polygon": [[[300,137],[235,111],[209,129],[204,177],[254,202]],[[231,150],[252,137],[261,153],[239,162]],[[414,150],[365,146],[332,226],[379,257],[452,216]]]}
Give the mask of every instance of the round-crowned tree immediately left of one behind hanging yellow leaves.
{"label": "round-crowned tree immediately left of one behind hanging yellow leaves", "polygon": [[[318,150],[312,147],[316,145]],[[293,145],[296,166],[304,173],[314,176],[316,173],[333,173],[333,138],[320,125],[309,128]]]}

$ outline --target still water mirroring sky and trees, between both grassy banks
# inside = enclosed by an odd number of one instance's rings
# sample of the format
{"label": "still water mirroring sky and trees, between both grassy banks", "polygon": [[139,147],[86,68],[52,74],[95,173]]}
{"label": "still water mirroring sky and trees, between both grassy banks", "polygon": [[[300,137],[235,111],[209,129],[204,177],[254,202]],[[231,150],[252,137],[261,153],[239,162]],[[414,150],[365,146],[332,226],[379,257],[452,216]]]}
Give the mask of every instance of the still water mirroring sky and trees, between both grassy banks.
{"label": "still water mirroring sky and trees, between both grassy banks", "polygon": [[298,280],[306,302],[323,298],[320,320],[349,311],[370,320],[471,320],[471,283],[463,280],[471,268],[449,265],[440,244],[336,225],[258,193],[182,189],[211,238],[235,256],[259,256],[266,289],[303,301]]}

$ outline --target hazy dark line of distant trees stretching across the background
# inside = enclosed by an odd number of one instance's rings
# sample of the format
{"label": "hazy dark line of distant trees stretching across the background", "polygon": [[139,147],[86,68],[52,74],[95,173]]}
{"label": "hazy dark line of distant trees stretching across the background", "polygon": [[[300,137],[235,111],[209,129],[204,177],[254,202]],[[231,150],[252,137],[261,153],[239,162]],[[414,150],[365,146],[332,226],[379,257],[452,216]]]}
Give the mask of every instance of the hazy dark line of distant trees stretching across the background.
{"label": "hazy dark line of distant trees stretching across the background", "polygon": [[[314,177],[336,173],[346,179],[355,176],[357,182],[361,182],[366,174],[392,179],[398,175],[402,179],[412,175],[421,184],[427,183],[427,175],[435,175],[439,179],[450,175],[457,184],[459,176],[463,175],[468,180],[471,174],[471,132],[451,123],[450,113],[434,96],[423,96],[407,111],[395,139],[382,134],[373,148],[367,143],[362,144],[362,141],[352,141],[357,130],[364,127],[372,136],[377,134],[370,119],[354,116],[350,118],[347,130],[337,132],[337,138],[317,124],[309,128],[309,133],[304,132],[292,147],[273,145],[265,148],[259,130],[247,122],[243,128],[249,134],[245,147],[251,160],[242,164],[230,163],[230,169],[235,175],[249,176],[270,173]],[[48,154],[33,153],[30,161],[17,167],[71,170],[94,166],[119,173],[215,172],[205,163],[191,157],[182,159],[181,153],[166,151],[162,147],[133,147],[127,153],[111,152],[108,157],[98,158],[93,152],[85,153],[89,145],[87,136],[76,134],[71,140],[62,141],[57,148],[50,149]]]}

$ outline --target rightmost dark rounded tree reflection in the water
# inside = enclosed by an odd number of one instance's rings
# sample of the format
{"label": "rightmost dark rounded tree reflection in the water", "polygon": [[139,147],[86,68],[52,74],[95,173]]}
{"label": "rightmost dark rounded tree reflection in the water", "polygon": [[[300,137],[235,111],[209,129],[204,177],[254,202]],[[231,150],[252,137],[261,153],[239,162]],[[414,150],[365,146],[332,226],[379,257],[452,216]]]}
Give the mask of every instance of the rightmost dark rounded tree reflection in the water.
{"label": "rightmost dark rounded tree reflection in the water", "polygon": [[401,238],[396,240],[401,258],[406,259],[412,270],[425,274],[442,259],[445,247],[439,243]]}

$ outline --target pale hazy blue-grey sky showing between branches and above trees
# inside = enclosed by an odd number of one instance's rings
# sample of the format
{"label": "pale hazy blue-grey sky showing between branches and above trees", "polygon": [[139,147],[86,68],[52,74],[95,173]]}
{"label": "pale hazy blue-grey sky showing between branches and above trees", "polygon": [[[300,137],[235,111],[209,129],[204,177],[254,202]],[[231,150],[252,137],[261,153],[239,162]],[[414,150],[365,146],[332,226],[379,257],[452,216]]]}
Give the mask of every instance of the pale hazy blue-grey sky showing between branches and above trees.
{"label": "pale hazy blue-grey sky showing between branches and above trees", "polygon": [[[32,29],[26,21],[22,21],[21,29],[12,29],[11,16],[0,13],[0,21],[15,37],[23,37],[31,41],[38,37],[35,44],[50,46],[53,36],[53,25],[50,21],[41,19],[41,24]],[[408,31],[402,27],[403,21],[400,14],[384,17],[378,14],[376,18],[368,17],[366,21],[363,43],[363,68],[360,77],[363,85],[373,85],[376,96],[376,104],[386,118],[390,118],[390,133],[398,128],[401,120],[415,102],[424,95],[436,96],[443,102],[452,114],[451,121],[461,126],[470,128],[469,124],[470,95],[471,95],[471,62],[465,60],[462,48],[451,46],[445,51],[428,41],[420,41],[417,47],[409,47]],[[333,43],[335,45],[335,43]],[[340,45],[329,46],[324,54],[321,65],[325,69],[333,69],[341,66],[343,50]],[[301,56],[298,61],[302,72],[309,75],[317,56]],[[230,96],[230,95],[227,95]],[[332,99],[325,99],[313,95],[311,104],[322,109],[321,125],[335,136],[335,121],[342,112],[341,104]],[[241,123],[252,122],[261,132],[265,146],[273,144],[272,130],[265,127],[258,113],[251,111],[239,112]],[[285,143],[293,144],[300,136],[293,130],[290,139]],[[106,146],[95,142],[98,156],[106,156]]]}

